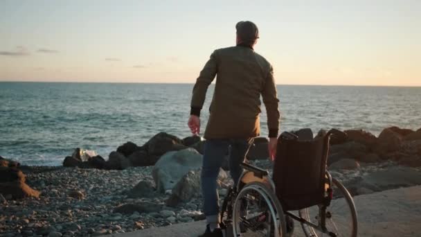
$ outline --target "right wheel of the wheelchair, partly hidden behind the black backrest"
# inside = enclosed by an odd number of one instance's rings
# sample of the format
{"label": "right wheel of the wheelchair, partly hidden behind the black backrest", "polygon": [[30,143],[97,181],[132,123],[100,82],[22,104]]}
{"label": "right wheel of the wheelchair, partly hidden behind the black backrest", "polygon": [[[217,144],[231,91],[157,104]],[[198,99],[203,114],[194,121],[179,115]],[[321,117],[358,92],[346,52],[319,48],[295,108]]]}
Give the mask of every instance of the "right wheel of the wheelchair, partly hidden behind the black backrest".
{"label": "right wheel of the wheelchair, partly hidden behind the black backrest", "polygon": [[301,222],[305,236],[357,236],[357,211],[350,193],[341,182],[334,178],[332,178],[332,188],[333,200],[325,210],[325,231],[321,226],[320,211],[322,206],[309,207],[298,211],[301,218],[319,227],[312,227],[305,222]]}

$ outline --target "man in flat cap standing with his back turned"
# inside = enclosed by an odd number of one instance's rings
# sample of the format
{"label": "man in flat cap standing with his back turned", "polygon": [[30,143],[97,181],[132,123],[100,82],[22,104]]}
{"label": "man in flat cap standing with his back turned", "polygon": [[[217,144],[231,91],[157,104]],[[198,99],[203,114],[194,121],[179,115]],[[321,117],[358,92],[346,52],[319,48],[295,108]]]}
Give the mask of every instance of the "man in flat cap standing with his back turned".
{"label": "man in flat cap standing with his back turned", "polygon": [[217,49],[201,70],[193,88],[188,126],[193,134],[200,132],[200,110],[206,90],[217,76],[210,115],[204,138],[201,190],[207,227],[203,237],[222,236],[217,195],[217,175],[222,160],[230,150],[229,166],[234,184],[242,173],[244,155],[260,134],[260,95],[267,109],[269,127],[269,156],[273,160],[279,127],[279,100],[274,82],[274,69],[254,51],[259,38],[256,24],[240,21],[237,46]]}

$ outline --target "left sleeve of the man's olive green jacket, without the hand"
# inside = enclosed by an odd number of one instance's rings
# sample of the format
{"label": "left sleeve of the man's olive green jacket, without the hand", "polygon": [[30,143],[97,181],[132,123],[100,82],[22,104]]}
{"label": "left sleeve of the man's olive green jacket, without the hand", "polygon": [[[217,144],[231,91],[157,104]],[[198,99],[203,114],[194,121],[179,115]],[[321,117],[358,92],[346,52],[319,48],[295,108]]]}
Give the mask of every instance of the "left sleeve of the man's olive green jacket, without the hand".
{"label": "left sleeve of the man's olive green jacket, without the hand", "polygon": [[193,87],[192,101],[190,103],[190,114],[200,116],[200,110],[203,107],[206,91],[217,73],[217,51],[211,54],[211,58],[206,62],[204,68],[200,71],[195,86]]}

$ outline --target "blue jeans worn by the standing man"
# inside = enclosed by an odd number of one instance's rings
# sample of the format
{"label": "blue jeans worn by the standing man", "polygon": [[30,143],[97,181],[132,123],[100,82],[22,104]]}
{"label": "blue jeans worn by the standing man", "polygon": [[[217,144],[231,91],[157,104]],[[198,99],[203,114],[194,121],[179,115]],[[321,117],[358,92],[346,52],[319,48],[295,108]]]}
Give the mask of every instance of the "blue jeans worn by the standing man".
{"label": "blue jeans worn by the standing man", "polygon": [[220,222],[219,196],[217,193],[217,176],[222,161],[229,152],[229,168],[234,186],[242,174],[240,164],[249,150],[252,139],[208,139],[204,146],[203,166],[201,170],[201,191],[204,197],[204,214],[209,222]]}

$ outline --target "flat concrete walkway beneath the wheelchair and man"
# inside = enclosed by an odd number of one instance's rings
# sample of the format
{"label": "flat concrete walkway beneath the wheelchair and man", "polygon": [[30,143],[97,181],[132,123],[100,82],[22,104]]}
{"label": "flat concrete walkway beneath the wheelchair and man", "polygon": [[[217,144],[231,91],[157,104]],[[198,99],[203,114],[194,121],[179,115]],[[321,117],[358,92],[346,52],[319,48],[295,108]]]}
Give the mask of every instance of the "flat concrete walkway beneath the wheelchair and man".
{"label": "flat concrete walkway beneath the wheelchair and man", "polygon": [[[358,236],[421,236],[421,186],[360,195],[354,201],[358,213]],[[114,236],[192,237],[203,233],[204,229],[205,222],[199,221]],[[298,222],[294,236],[304,236]]]}

